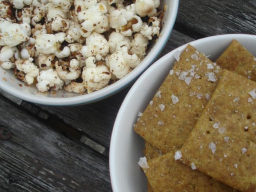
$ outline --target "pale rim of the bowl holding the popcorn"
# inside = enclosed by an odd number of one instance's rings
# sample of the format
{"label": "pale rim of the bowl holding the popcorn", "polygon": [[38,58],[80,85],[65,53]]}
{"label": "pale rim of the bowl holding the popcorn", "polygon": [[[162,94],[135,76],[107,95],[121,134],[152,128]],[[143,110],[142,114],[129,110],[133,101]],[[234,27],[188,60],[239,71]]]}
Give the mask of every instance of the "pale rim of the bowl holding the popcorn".
{"label": "pale rim of the bowl holding the popcorn", "polygon": [[150,52],[156,51],[157,54],[154,56],[148,54],[147,57],[145,57],[143,61],[140,63],[140,65],[138,65],[134,70],[132,70],[132,72],[127,74],[124,78],[119,79],[117,82],[109,85],[108,87],[97,90],[90,94],[82,94],[67,98],[40,97],[32,94],[24,94],[23,92],[17,91],[17,89],[6,85],[2,81],[0,81],[0,89],[17,98],[20,98],[21,100],[51,106],[83,105],[107,98],[124,89],[130,83],[135,81],[139,77],[139,75],[141,75],[155,61],[155,59],[158,57],[158,55],[161,53],[161,50],[163,50],[165,44],[167,43],[169,36],[171,35],[171,31],[173,29],[178,14],[178,4],[179,0],[173,0],[173,6],[169,7],[169,10],[171,11],[171,16],[169,17],[170,19],[168,18],[169,22],[165,22],[165,33],[161,33],[161,39],[158,39],[152,50],[150,50]]}

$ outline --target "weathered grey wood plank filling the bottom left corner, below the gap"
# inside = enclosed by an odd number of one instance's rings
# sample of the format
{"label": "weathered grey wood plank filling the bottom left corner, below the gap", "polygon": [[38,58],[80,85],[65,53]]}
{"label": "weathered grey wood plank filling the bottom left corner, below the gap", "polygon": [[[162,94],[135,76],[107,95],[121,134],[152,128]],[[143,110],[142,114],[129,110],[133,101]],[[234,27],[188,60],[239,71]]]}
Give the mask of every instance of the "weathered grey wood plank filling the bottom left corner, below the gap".
{"label": "weathered grey wood plank filling the bottom left corner, below the gap", "polygon": [[66,138],[0,96],[0,186],[16,191],[111,191],[108,159]]}

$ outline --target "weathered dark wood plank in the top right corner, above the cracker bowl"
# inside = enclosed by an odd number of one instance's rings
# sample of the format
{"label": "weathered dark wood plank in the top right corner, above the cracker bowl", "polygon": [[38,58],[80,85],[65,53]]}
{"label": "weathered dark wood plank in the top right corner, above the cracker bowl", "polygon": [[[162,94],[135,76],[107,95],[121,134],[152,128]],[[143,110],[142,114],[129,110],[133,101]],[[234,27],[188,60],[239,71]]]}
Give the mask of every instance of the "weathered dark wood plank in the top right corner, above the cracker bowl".
{"label": "weathered dark wood plank in the top right corner, above the cracker bowl", "polygon": [[195,38],[226,33],[256,34],[256,1],[180,0],[176,26]]}

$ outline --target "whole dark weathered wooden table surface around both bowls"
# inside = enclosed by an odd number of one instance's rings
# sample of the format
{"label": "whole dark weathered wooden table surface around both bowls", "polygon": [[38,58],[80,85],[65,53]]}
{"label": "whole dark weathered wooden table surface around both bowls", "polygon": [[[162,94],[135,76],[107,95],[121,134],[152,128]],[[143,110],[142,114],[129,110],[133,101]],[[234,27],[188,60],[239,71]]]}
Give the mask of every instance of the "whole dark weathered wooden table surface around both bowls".
{"label": "whole dark weathered wooden table surface around both bowls", "polygon": [[[160,56],[195,39],[226,33],[256,34],[256,0],[180,0]],[[112,191],[111,131],[131,86],[76,107],[37,105],[0,90],[0,127],[12,133],[7,140],[0,137],[0,192]]]}

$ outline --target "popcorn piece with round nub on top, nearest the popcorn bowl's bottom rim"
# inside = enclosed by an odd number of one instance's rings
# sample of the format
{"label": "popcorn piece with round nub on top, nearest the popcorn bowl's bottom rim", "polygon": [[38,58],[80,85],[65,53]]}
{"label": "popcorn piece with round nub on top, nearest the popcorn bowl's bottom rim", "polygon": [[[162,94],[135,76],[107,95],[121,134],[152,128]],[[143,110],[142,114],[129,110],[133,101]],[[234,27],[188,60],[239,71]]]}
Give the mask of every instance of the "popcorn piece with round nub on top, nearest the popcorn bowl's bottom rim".
{"label": "popcorn piece with round nub on top, nearest the popcorn bowl's bottom rim", "polygon": [[108,68],[104,65],[96,66],[95,61],[94,57],[88,57],[85,61],[86,66],[83,68],[82,79],[88,93],[102,89],[111,79]]}

